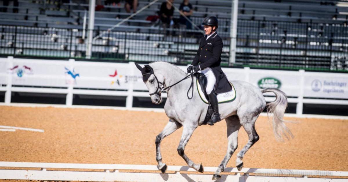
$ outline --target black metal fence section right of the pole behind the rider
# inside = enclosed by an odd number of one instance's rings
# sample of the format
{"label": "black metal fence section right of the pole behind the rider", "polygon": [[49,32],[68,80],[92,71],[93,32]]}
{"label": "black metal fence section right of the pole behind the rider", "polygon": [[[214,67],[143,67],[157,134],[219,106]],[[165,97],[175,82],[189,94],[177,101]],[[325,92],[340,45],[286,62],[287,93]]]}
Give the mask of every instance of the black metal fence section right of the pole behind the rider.
{"label": "black metal fence section right of the pole behind the rider", "polygon": [[239,20],[236,63],[348,71],[348,26]]}

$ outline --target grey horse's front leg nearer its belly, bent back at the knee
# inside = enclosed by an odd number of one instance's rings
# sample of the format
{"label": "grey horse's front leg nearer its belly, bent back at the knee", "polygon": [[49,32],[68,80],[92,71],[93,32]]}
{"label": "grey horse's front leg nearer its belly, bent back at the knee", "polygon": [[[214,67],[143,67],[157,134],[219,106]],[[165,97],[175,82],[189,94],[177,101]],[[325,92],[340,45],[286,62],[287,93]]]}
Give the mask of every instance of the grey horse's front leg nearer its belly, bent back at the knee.
{"label": "grey horse's front leg nearer its belly, bent back at the knee", "polygon": [[191,161],[191,159],[189,159],[185,155],[185,152],[184,152],[185,146],[186,146],[187,142],[189,142],[189,140],[192,136],[192,133],[193,133],[193,131],[195,131],[196,128],[197,128],[197,125],[184,125],[180,144],[179,144],[179,147],[177,147],[177,152],[186,161],[186,163],[189,167],[192,167],[196,171],[203,173],[204,169],[203,169],[202,164],[195,164],[193,161]]}

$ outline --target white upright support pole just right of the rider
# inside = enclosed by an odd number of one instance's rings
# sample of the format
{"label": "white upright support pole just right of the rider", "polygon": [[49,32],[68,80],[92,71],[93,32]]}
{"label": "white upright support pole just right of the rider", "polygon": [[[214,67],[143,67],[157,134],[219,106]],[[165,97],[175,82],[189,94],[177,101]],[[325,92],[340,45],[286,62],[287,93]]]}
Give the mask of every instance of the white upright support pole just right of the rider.
{"label": "white upright support pole just right of the rider", "polygon": [[232,0],[229,66],[233,66],[233,64],[236,62],[237,19],[238,19],[238,0]]}

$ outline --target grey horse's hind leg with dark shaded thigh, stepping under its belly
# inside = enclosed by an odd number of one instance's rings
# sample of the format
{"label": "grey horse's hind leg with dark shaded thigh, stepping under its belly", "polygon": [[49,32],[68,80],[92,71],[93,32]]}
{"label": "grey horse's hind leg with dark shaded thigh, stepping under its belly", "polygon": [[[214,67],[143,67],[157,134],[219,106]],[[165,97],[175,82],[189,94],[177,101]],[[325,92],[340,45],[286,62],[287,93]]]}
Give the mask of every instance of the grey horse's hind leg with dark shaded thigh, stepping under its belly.
{"label": "grey horse's hind leg with dark shaded thigh, stepping under its belly", "polygon": [[221,177],[221,172],[223,172],[226,168],[226,165],[228,161],[230,160],[233,153],[236,151],[238,147],[238,131],[242,125],[240,125],[238,116],[230,116],[225,119],[227,124],[227,137],[228,137],[228,147],[227,147],[227,153],[225,157],[223,158],[221,164],[219,167],[217,167],[216,172],[213,175],[212,180],[217,180]]}

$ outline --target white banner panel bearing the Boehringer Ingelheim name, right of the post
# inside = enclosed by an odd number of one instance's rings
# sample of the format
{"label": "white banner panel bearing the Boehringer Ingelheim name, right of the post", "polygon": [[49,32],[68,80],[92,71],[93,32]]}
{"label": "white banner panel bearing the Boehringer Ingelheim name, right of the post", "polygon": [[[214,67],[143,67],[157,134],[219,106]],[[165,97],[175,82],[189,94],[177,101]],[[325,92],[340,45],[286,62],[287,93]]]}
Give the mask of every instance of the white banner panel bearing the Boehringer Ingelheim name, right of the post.
{"label": "white banner panel bearing the Boehringer Ingelheim name, right of the post", "polygon": [[304,97],[348,99],[348,75],[306,72],[303,94]]}

